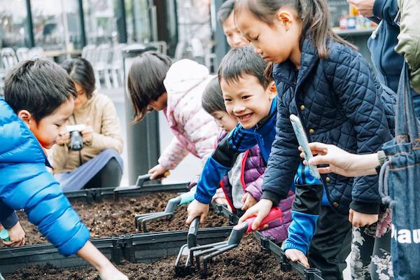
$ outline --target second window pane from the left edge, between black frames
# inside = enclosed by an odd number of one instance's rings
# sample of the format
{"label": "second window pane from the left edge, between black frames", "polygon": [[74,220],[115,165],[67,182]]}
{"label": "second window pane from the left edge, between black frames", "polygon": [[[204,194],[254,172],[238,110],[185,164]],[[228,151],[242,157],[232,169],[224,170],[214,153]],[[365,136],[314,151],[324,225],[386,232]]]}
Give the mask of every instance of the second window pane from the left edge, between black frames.
{"label": "second window pane from the left edge, between black frames", "polygon": [[35,45],[44,50],[80,49],[77,0],[31,0]]}

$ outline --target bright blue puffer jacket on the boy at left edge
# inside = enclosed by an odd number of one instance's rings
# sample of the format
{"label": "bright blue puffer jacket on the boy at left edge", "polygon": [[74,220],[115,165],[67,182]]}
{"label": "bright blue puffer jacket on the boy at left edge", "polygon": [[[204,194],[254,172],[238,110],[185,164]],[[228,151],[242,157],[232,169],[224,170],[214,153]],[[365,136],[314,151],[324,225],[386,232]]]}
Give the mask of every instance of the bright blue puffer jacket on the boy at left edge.
{"label": "bright blue puffer jacket on the boy at left edge", "polygon": [[72,255],[85,245],[89,230],[45,164],[34,134],[0,99],[0,221],[13,209],[25,209],[29,221],[60,253]]}

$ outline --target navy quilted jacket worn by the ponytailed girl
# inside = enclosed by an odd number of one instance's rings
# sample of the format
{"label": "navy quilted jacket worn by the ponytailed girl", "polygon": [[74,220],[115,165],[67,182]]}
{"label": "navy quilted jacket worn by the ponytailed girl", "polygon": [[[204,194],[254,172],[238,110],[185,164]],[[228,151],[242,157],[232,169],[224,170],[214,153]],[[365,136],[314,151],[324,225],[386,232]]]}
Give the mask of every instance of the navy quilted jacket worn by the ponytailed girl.
{"label": "navy quilted jacket worn by the ponytailed girl", "polygon": [[[302,43],[299,71],[290,61],[273,69],[278,92],[277,134],[265,172],[263,198],[286,197],[301,160],[289,116],[300,116],[309,142],[334,144],[350,153],[373,153],[392,139],[382,102],[384,90],[365,59],[347,45],[330,42],[329,55],[318,57],[309,39]],[[334,209],[377,214],[381,202],[378,176],[323,176]]]}

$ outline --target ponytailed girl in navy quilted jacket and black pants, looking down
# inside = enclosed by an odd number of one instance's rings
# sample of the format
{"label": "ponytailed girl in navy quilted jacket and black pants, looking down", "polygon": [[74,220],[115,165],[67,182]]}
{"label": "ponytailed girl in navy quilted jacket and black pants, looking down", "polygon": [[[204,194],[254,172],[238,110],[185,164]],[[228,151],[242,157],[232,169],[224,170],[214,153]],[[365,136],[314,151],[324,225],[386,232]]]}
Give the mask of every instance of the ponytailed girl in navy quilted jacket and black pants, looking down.
{"label": "ponytailed girl in navy quilted jacket and black pants, looking down", "polygon": [[[237,27],[258,55],[275,64],[272,76],[279,92],[277,136],[262,200],[242,217],[256,215],[253,228],[272,205],[286,197],[300,164],[291,113],[300,116],[309,142],[335,144],[351,153],[375,152],[392,138],[381,86],[363,57],[332,31],[329,19],[324,0],[236,3]],[[307,253],[311,266],[321,269],[324,279],[342,279],[351,235],[346,216],[356,228],[377,221],[381,204],[378,177],[351,179],[330,174],[322,179],[330,205],[321,208],[314,237],[302,225],[290,225],[283,248],[286,254],[293,253],[288,254],[294,255],[293,260],[305,261]],[[308,251],[301,237],[311,240]]]}

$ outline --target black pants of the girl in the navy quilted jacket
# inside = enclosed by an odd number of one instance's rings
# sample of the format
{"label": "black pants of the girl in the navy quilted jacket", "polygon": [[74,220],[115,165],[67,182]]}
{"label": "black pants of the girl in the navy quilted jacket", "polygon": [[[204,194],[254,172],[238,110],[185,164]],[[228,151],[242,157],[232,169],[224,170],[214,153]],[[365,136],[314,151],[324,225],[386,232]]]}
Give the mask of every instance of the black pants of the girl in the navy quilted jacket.
{"label": "black pants of the girl in the navy quilted jacket", "polygon": [[321,207],[315,235],[308,250],[309,265],[321,270],[325,280],[343,279],[351,251],[351,223],[330,206]]}

